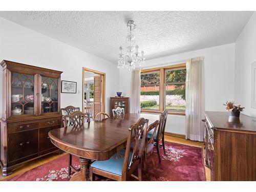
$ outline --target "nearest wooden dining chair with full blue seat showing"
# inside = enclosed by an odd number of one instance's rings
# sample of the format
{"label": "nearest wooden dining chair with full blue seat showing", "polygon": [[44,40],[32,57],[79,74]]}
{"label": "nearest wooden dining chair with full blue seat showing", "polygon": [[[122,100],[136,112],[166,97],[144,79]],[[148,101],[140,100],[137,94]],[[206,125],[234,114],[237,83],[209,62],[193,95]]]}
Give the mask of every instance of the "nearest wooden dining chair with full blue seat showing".
{"label": "nearest wooden dining chair with full blue seat showing", "polygon": [[[148,119],[140,118],[137,123],[129,128],[126,148],[117,152],[110,159],[105,161],[94,161],[90,166],[90,180],[95,180],[95,175],[107,177],[116,181],[126,181],[130,176],[141,181],[142,153],[145,144],[146,129]],[[139,143],[139,138],[143,136],[143,141]],[[134,137],[134,148],[130,152],[131,141]],[[138,176],[133,175],[135,170]]]}

